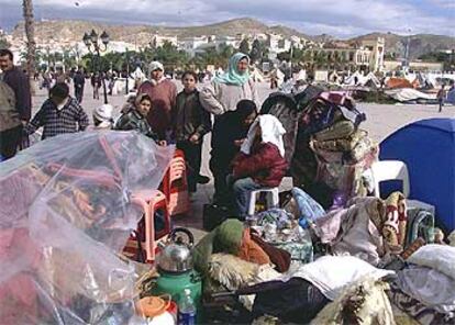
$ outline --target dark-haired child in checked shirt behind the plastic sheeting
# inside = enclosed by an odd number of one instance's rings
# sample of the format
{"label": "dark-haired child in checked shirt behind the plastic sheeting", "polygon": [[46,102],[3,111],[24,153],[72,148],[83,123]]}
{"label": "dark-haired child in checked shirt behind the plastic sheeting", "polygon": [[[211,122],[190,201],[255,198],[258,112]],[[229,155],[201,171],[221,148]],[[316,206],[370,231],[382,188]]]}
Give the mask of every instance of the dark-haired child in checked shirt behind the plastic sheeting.
{"label": "dark-haired child in checked shirt behind the plastic sheeting", "polygon": [[89,124],[88,116],[79,102],[69,96],[68,85],[56,83],[33,120],[25,126],[26,135],[43,126],[43,136],[56,136],[64,133],[84,131]]}

